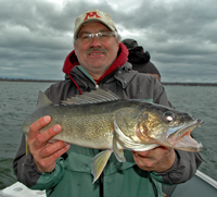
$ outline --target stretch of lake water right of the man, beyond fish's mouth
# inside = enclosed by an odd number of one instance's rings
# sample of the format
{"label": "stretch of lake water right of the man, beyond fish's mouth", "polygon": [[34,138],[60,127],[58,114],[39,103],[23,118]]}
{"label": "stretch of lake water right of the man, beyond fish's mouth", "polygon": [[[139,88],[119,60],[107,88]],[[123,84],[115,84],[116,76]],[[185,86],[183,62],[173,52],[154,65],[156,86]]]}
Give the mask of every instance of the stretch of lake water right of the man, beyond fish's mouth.
{"label": "stretch of lake water right of the man, beyond fish's mouth", "polygon": [[192,134],[204,146],[201,151],[202,172],[217,181],[217,87],[212,86],[165,86],[171,103],[204,121]]}

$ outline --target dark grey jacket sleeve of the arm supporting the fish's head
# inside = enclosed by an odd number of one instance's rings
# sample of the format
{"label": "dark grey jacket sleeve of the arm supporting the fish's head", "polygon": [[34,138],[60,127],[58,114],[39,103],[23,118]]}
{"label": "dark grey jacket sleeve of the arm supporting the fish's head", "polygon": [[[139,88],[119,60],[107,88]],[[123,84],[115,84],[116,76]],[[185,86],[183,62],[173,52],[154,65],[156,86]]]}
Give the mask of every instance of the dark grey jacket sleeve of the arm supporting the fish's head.
{"label": "dark grey jacket sleeve of the arm supporting the fish's head", "polygon": [[[154,102],[174,108],[167,99],[165,88],[156,82]],[[202,158],[199,152],[189,152],[183,150],[175,150],[176,160],[174,165],[166,172],[152,172],[152,176],[157,181],[166,184],[178,184],[190,180],[196,172],[196,169],[202,163]]]}

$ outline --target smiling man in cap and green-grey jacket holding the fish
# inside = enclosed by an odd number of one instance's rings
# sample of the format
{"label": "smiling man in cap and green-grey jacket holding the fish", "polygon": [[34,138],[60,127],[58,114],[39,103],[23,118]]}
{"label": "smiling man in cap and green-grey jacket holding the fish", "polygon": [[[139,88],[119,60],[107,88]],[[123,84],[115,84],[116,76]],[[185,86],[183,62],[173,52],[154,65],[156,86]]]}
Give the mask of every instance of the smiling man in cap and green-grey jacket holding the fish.
{"label": "smiling man in cap and green-grey jacket holding the fish", "polygon": [[[120,98],[149,99],[169,106],[166,93],[154,77],[129,70],[128,50],[120,42],[108,14],[87,11],[77,17],[74,47],[64,63],[66,78],[52,85],[46,95],[53,103],[95,88],[110,89]],[[46,189],[50,197],[76,196],[162,196],[162,183],[177,184],[191,178],[201,163],[197,153],[157,147],[150,151],[125,151],[126,162],[112,155],[101,177],[92,184],[90,163],[100,151],[49,143],[61,132],[55,125],[39,131],[51,121],[41,118],[31,124],[27,138],[30,153],[26,156],[25,137],[14,159],[17,180],[33,189]]]}

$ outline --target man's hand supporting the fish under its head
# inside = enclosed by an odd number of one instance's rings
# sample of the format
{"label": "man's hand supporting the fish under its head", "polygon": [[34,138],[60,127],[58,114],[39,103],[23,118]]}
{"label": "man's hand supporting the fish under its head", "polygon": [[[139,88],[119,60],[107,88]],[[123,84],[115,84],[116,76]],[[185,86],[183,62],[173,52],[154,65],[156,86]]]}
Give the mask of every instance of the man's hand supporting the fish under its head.
{"label": "man's hand supporting the fish under its head", "polygon": [[163,146],[148,151],[132,151],[132,155],[140,169],[154,172],[169,170],[176,159],[175,150]]}

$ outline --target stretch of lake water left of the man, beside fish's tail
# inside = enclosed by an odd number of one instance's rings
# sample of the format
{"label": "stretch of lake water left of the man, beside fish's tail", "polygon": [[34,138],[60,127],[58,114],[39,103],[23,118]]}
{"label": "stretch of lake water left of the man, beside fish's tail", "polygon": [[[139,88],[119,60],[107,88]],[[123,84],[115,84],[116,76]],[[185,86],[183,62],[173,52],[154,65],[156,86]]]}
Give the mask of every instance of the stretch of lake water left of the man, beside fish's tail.
{"label": "stretch of lake water left of the man, beside fish's tail", "polygon": [[0,189],[16,182],[13,158],[22,138],[22,123],[35,110],[39,90],[51,83],[0,82]]}

